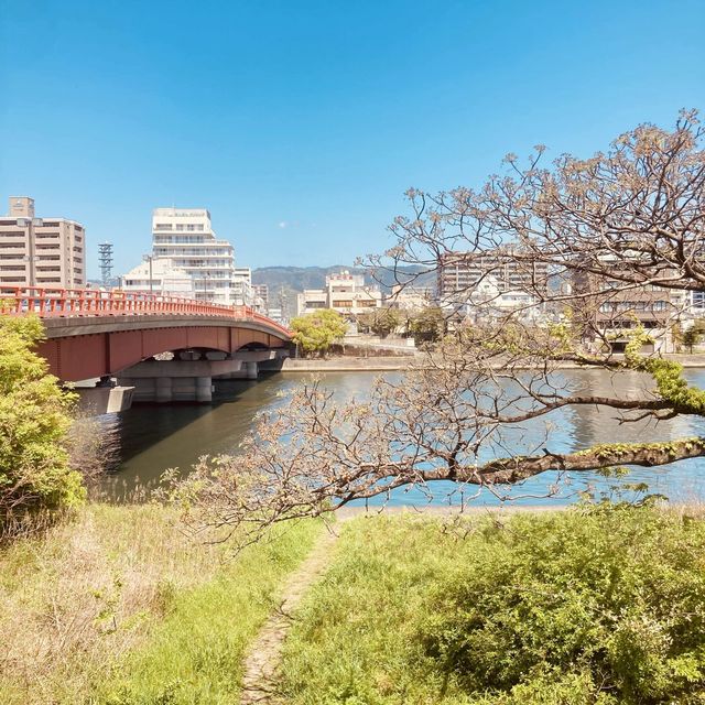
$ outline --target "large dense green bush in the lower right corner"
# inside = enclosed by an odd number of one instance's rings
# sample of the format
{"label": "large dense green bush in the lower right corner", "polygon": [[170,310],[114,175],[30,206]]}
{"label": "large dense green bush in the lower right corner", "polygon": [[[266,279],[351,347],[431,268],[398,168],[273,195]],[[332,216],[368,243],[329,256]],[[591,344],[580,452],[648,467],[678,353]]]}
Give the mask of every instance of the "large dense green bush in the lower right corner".
{"label": "large dense green bush in the lower right corner", "polygon": [[516,517],[474,543],[420,630],[464,691],[506,694],[494,703],[705,702],[699,521],[598,508]]}

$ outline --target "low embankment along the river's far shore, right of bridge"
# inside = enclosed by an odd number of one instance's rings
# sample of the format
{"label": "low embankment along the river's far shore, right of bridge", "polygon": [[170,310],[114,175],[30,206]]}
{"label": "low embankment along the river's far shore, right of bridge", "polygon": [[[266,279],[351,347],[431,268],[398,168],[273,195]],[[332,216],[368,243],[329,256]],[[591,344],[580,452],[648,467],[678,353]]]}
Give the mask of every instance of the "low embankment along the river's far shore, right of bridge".
{"label": "low embankment along the river's far shore, right of bridge", "polygon": [[[666,355],[669,360],[680,362],[684,368],[705,368],[705,355]],[[384,372],[408,370],[422,365],[424,356],[415,355],[393,357],[352,357],[338,356],[330,358],[294,359],[286,358],[281,367],[282,372]],[[499,369],[500,366],[497,366]],[[562,362],[558,369],[581,370],[584,365],[576,362]]]}

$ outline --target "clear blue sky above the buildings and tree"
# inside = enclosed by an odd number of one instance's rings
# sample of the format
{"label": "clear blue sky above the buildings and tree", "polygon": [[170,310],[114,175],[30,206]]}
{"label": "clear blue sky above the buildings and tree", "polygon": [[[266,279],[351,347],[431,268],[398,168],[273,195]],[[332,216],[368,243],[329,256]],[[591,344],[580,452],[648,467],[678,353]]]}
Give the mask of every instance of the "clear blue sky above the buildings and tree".
{"label": "clear blue sky above the buildings and tree", "polygon": [[170,205],[240,265],[351,262],[409,186],[705,108],[704,36],[702,0],[0,0],[0,210],[83,221],[89,275]]}

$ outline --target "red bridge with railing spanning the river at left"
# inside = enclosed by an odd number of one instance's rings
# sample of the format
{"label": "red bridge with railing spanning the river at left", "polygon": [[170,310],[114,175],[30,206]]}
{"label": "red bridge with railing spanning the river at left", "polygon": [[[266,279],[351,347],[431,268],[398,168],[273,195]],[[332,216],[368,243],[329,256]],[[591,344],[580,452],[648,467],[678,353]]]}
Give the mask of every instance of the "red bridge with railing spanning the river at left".
{"label": "red bridge with railing spanning the river at left", "polygon": [[[247,306],[147,292],[1,286],[0,313],[35,313],[43,319],[46,340],[40,345],[39,354],[48,361],[51,372],[65,382],[109,376],[133,382],[134,370],[140,372],[139,379],[145,380],[141,369],[144,365],[140,362],[161,352],[174,352],[175,362],[152,362],[148,369],[155,376],[149,379],[207,377],[209,386],[215,372],[206,375],[205,365],[220,362],[221,370],[235,372],[245,364],[250,366],[247,376],[256,377],[257,367],[252,373],[252,364],[274,357],[274,350],[283,352],[291,340],[288,328]],[[177,370],[176,364],[183,361],[192,367],[193,362],[204,362],[204,373]],[[156,373],[162,365],[170,365],[169,373]],[[174,397],[163,390],[159,401]],[[205,397],[202,392],[195,399],[209,400],[209,393],[208,399]],[[187,398],[188,394],[184,397]]]}

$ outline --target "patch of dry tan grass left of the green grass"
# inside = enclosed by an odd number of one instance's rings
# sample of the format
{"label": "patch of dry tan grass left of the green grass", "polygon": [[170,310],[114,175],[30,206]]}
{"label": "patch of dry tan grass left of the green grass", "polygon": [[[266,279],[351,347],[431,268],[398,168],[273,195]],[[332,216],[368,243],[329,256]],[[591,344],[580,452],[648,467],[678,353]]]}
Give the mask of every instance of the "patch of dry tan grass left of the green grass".
{"label": "patch of dry tan grass left of the green grass", "polygon": [[189,543],[154,506],[89,505],[0,552],[0,702],[82,702],[218,552]]}

